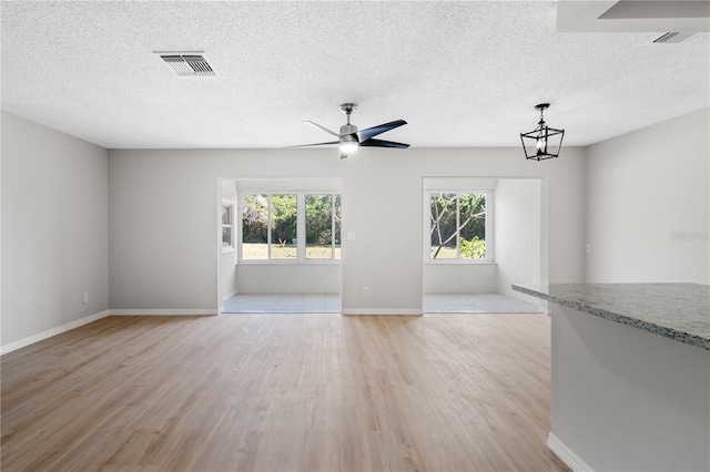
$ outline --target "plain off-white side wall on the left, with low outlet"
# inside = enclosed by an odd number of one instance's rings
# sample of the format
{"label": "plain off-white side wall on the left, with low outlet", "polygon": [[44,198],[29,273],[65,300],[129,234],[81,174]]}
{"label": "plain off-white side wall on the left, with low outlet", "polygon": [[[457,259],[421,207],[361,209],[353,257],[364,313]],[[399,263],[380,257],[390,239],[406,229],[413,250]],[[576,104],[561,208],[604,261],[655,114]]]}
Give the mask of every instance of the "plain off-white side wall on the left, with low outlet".
{"label": "plain off-white side wall on the left, with low outlet", "polygon": [[3,347],[106,309],[106,150],[2,112]]}

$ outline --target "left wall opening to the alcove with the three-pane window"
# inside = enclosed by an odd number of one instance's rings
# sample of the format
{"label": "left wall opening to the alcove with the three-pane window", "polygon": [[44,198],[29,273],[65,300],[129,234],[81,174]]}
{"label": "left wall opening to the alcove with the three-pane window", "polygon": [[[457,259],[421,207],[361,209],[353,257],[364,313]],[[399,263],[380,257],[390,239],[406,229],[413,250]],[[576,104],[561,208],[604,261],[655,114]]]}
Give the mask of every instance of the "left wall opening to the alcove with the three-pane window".
{"label": "left wall opening to the alcove with the three-pane window", "polygon": [[220,312],[341,312],[341,178],[220,178]]}

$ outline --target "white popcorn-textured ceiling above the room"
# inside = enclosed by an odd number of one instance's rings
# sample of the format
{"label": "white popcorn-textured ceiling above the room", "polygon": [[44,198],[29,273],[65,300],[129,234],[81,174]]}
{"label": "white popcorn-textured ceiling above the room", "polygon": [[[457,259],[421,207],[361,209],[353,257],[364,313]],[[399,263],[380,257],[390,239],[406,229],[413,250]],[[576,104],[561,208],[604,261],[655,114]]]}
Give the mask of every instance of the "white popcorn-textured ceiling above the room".
{"label": "white popcorn-textured ceiling above the room", "polygon": [[[361,129],[416,147],[587,145],[710,103],[710,39],[556,32],[556,1],[2,2],[2,109],[109,148],[282,147]],[[204,51],[178,78],[153,51]]]}

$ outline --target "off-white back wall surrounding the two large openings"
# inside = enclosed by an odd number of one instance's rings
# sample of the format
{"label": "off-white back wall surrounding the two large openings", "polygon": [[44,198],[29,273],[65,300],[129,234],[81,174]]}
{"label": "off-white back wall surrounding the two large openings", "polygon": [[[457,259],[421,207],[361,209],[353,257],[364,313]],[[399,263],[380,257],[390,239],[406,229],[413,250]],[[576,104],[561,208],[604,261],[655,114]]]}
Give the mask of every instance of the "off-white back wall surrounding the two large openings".
{"label": "off-white back wall surrounding the two large openings", "polygon": [[344,312],[422,311],[424,176],[548,177],[550,281],[581,281],[584,150],[541,163],[521,154],[363,148],[339,160],[336,150],[110,151],[111,308],[216,308],[219,177],[342,178],[343,232],[356,233],[342,243]]}

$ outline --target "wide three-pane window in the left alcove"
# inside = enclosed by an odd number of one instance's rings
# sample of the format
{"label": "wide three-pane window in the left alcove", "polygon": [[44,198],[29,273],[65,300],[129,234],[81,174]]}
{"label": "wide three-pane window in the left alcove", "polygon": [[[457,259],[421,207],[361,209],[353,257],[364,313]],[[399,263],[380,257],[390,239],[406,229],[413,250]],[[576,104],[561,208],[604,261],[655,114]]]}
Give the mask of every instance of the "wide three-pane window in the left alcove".
{"label": "wide three-pane window in the left alcove", "polygon": [[341,195],[240,194],[241,260],[313,261],[341,258]]}

